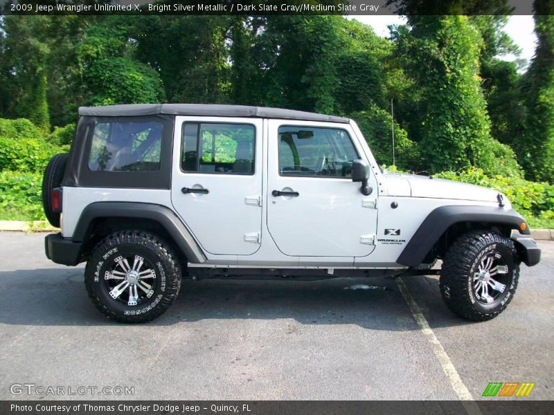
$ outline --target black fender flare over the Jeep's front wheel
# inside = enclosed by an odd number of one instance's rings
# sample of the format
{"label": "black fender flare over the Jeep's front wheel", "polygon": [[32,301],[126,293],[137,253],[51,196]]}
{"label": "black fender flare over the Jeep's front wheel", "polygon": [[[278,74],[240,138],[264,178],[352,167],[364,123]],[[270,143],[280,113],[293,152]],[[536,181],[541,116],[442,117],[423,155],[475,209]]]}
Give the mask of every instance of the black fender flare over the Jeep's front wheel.
{"label": "black fender flare over the Jeep's front wheel", "polygon": [[461,222],[494,223],[519,230],[522,234],[530,234],[528,226],[521,230],[521,223],[525,220],[513,209],[504,210],[494,206],[440,206],[427,215],[402,250],[397,263],[418,266],[443,233],[454,223]]}

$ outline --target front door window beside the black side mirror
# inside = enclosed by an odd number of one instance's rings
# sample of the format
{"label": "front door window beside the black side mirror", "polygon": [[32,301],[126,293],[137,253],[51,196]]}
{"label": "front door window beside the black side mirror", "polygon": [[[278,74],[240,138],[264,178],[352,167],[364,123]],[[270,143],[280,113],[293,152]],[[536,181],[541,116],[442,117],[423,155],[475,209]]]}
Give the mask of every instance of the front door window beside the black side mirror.
{"label": "front door window beside the black side mirror", "polygon": [[281,176],[350,177],[359,158],[343,129],[279,127]]}

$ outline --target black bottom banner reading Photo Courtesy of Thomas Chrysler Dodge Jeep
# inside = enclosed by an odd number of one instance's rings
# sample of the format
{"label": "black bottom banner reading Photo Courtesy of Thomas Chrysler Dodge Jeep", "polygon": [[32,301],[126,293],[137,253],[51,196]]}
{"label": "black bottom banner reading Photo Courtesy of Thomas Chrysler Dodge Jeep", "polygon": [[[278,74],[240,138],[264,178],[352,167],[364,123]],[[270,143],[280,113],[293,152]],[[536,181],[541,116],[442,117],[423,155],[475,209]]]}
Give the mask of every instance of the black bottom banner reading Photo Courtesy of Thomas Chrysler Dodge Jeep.
{"label": "black bottom banner reading Photo Courtesy of Thomas Chrysler Dodge Jeep", "polygon": [[157,401],[33,400],[1,401],[6,415],[542,415],[554,412],[553,401]]}

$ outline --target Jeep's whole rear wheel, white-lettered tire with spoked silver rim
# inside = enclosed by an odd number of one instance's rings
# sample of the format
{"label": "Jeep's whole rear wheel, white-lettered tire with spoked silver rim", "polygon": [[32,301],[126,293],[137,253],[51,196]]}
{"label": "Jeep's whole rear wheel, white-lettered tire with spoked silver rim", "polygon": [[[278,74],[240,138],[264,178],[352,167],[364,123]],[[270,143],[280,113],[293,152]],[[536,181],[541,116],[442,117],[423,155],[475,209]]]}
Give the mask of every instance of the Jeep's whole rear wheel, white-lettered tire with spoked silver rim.
{"label": "Jeep's whole rear wheel, white-lettered tire with spoked silver rim", "polygon": [[181,268],[168,243],[129,230],[103,239],[84,270],[93,304],[120,322],[147,322],[164,313],[181,288]]}

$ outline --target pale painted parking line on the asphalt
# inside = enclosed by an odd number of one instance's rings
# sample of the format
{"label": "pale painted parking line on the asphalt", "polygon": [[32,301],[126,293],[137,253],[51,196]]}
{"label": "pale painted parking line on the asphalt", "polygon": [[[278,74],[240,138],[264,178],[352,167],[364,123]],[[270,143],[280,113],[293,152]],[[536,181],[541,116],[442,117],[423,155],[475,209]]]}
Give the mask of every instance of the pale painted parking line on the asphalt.
{"label": "pale painted parking line on the asphalt", "polygon": [[429,343],[431,343],[433,352],[435,353],[435,356],[438,358],[438,361],[440,362],[440,366],[443,368],[443,371],[445,372],[445,375],[448,381],[450,382],[450,385],[452,385],[452,388],[458,395],[458,398],[460,398],[460,400],[463,400],[463,401],[472,401],[472,402],[464,402],[464,407],[467,414],[470,414],[470,415],[481,414],[481,410],[474,402],[474,398],[472,394],[470,393],[469,389],[467,389],[467,387],[465,386],[460,375],[458,375],[458,371],[456,370],[456,367],[454,367],[452,360],[450,360],[450,358],[448,357],[445,349],[443,348],[443,345],[440,344],[440,342],[438,341],[438,338],[436,337],[434,331],[429,326],[427,319],[421,312],[421,309],[419,308],[418,304],[415,302],[415,299],[413,299],[413,297],[409,293],[408,288],[406,287],[406,284],[404,284],[404,281],[402,281],[402,277],[398,277],[396,279],[396,284],[398,286],[398,289],[400,290],[400,293],[402,293],[402,297],[404,297],[404,299],[406,300],[406,303],[410,308],[411,314],[413,315],[415,322],[418,323],[418,326],[420,326],[421,332],[423,333],[423,335],[425,335],[427,340],[429,340]]}

